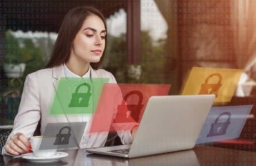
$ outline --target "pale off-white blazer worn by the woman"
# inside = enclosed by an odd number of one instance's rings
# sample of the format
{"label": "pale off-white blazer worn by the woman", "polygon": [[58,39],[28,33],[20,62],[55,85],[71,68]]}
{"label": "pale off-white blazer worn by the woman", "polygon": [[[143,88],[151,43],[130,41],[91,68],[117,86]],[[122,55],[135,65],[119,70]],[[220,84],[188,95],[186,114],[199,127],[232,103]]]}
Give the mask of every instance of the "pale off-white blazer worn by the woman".
{"label": "pale off-white blazer worn by the woman", "polygon": [[[109,83],[116,83],[115,77],[105,70],[93,70],[91,68],[91,77],[109,78]],[[14,127],[10,136],[15,133],[24,133],[28,138],[33,136],[37,124],[41,120],[41,133],[44,133],[46,124],[54,122],[66,122],[66,116],[48,116],[48,111],[53,101],[57,81],[65,77],[64,65],[53,68],[45,68],[27,75],[24,90],[19,104],[19,111],[15,117]],[[68,116],[70,122],[80,122],[79,116]],[[10,139],[8,136],[8,140]],[[86,148],[103,147],[107,140],[108,133],[93,133],[90,135]],[[132,137],[130,131],[118,131],[118,136],[123,144],[131,144]],[[81,147],[81,146],[80,146]],[[3,148],[3,154],[7,154]]]}

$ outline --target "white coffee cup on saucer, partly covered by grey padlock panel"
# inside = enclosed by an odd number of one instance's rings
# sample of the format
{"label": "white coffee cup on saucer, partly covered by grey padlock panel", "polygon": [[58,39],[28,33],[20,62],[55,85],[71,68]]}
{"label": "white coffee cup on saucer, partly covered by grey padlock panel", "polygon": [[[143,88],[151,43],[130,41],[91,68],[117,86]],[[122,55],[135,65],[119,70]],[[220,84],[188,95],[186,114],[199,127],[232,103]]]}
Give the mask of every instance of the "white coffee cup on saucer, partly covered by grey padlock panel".
{"label": "white coffee cup on saucer, partly covered by grey padlock panel", "polygon": [[[30,143],[31,143],[33,153],[35,154],[35,156],[38,156],[38,157],[54,156],[57,152],[57,149],[46,149],[46,150],[42,150],[42,148],[39,149],[43,138],[53,140],[56,137],[45,137],[45,136],[33,136],[33,137],[31,137],[30,138]],[[51,142],[51,141],[49,141],[49,142]]]}

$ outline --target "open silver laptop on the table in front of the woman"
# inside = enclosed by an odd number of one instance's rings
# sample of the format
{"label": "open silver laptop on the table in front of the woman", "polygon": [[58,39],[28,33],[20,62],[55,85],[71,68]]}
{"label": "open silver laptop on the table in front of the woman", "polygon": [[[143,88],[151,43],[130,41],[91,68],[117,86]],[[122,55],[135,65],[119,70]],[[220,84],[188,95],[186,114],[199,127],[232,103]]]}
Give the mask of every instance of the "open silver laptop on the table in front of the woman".
{"label": "open silver laptop on the table in front of the woman", "polygon": [[192,149],[215,95],[168,95],[149,98],[131,145],[87,149],[94,154],[136,158]]}

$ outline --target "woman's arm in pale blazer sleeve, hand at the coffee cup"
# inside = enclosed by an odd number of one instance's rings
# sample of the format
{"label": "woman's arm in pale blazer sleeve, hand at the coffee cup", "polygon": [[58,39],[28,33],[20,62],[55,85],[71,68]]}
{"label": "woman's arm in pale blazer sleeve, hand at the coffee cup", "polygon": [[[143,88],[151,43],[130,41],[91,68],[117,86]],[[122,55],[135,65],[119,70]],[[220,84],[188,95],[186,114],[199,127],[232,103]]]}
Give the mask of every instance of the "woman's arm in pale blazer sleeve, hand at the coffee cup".
{"label": "woman's arm in pale blazer sleeve, hand at the coffee cup", "polygon": [[32,73],[26,77],[19,111],[2,154],[19,155],[26,153],[29,145],[28,140],[33,136],[40,117],[37,75]]}

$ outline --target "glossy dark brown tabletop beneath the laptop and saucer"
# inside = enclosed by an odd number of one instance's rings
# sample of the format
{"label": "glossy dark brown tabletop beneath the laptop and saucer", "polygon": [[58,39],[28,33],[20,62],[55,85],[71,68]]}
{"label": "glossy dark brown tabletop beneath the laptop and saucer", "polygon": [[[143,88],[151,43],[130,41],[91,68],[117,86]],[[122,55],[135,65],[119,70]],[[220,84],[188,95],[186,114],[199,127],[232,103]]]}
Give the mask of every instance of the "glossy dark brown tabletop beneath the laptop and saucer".
{"label": "glossy dark brown tabletop beneath the laptop and saucer", "polygon": [[[254,152],[208,146],[196,146],[191,150],[132,159],[89,154],[84,149],[73,149],[67,152],[68,156],[66,158],[63,158],[58,163],[48,165],[256,165],[256,153]],[[0,165],[4,164],[36,165],[24,159],[0,156]]]}

